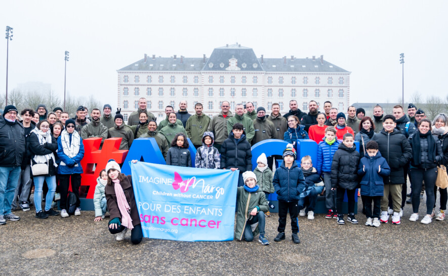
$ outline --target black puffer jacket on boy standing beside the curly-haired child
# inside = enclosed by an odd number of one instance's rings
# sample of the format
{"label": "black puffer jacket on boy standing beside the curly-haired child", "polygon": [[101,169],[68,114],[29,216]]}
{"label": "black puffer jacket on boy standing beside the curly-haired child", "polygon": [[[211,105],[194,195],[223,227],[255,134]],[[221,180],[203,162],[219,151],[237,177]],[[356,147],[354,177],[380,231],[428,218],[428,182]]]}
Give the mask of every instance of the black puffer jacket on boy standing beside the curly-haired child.
{"label": "black puffer jacket on boy standing beside the curly-haired child", "polygon": [[356,146],[346,147],[341,143],[333,155],[332,162],[332,187],[355,189],[359,185],[358,165],[361,155]]}

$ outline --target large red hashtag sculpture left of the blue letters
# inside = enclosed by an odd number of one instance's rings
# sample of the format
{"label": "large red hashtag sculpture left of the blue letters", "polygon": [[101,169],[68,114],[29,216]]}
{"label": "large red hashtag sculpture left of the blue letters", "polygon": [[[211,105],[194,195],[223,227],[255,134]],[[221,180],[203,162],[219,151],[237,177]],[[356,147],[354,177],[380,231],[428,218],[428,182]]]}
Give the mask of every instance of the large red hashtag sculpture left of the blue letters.
{"label": "large red hashtag sculpture left of the blue letters", "polygon": [[[89,186],[87,199],[93,199],[99,172],[106,168],[107,161],[114,159],[121,164],[125,161],[128,150],[120,150],[121,138],[109,138],[104,140],[100,149],[101,138],[87,138],[84,143],[84,158],[81,161],[84,173],[81,177],[81,186]],[[93,167],[95,166],[95,170]]]}

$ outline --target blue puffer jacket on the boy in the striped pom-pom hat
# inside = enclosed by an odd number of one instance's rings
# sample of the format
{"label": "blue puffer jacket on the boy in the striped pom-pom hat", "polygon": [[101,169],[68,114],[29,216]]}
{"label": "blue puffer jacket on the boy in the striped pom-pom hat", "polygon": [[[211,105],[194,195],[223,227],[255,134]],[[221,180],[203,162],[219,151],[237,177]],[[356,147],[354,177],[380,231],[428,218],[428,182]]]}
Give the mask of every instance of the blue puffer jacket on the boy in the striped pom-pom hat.
{"label": "blue puffer jacket on the boy in the striped pom-pom hat", "polygon": [[305,189],[305,178],[302,169],[294,161],[291,169],[284,166],[284,163],[275,170],[274,179],[275,192],[279,201],[298,201],[299,195]]}

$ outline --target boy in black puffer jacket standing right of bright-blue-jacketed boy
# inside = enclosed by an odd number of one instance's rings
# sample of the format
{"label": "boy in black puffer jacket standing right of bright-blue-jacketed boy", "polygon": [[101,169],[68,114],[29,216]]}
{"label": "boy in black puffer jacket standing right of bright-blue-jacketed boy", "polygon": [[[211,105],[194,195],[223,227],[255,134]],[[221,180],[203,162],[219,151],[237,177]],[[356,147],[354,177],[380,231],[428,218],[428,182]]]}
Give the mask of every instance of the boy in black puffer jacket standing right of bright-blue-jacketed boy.
{"label": "boy in black puffer jacket standing right of bright-blue-jacketed boy", "polygon": [[355,190],[358,182],[358,165],[360,154],[354,145],[353,134],[344,134],[344,140],[339,145],[333,156],[332,162],[332,189],[336,189],[336,211],[338,212],[338,224],[345,224],[342,213],[342,201],[345,191],[348,198],[348,221],[357,224],[355,218]]}

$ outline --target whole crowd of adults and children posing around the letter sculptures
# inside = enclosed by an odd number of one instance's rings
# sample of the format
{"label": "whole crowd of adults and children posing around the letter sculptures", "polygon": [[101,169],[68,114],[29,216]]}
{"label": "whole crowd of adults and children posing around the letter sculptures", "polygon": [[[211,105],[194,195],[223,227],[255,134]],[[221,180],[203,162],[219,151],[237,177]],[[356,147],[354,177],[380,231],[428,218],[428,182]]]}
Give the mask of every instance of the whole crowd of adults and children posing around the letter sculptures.
{"label": "whole crowd of adults and children posing around the letter sculptures", "polygon": [[[300,243],[297,217],[307,215],[308,219],[314,219],[319,194],[325,197],[328,210],[325,218],[335,218],[338,224],[345,224],[342,201],[347,193],[347,220],[358,223],[354,216],[357,188],[360,188],[366,225],[379,227],[380,222],[389,221],[390,215],[392,224],[400,224],[408,174],[412,179],[410,220],[419,218],[423,183],[427,212],[421,222],[430,223],[434,217],[444,220],[446,188],[438,189],[437,215],[434,208],[437,167],[448,161],[448,143],[443,144],[448,133],[446,114],[438,114],[431,122],[413,104],[408,107],[408,116],[400,105],[394,106],[393,114],[388,115],[377,105],[372,119],[365,116],[364,109],[353,106],[348,108],[346,116],[329,101],[324,103],[324,112],[319,112],[316,101],[310,101],[309,112],[305,113],[298,108],[296,100],[291,100],[290,110],[284,115],[280,114],[277,103],[272,104],[272,112],[267,115],[264,107],[255,110],[251,102],[236,104],[232,114],[229,102],[223,101],[221,112],[209,117],[202,112],[201,103],[196,103],[195,113],[190,114],[187,102],[181,101],[178,112],[174,112],[173,106],[167,106],[165,120],[157,123],[147,110],[145,98],[139,99],[138,105],[127,124],[119,109],[112,115],[109,104],[103,106],[102,114],[100,109],[93,108],[90,116],[86,107],[79,106],[73,119],[62,108],[48,113],[45,105],[38,105],[35,110],[22,110],[20,122],[19,111],[12,105],[6,106],[0,117],[0,225],[20,219],[12,213],[16,208],[30,210],[32,185],[37,218],[80,215],[83,139],[91,137],[102,138],[101,144],[106,138],[119,137],[120,149],[129,149],[134,139],[152,137],[167,165],[183,167],[192,167],[190,141],[196,148],[196,168],[238,171],[237,240],[252,241],[259,233],[259,241],[269,244],[264,225],[265,217],[271,216],[269,207],[274,208],[268,201],[268,195],[274,191],[279,214],[276,242],[285,239],[289,212],[292,240]],[[257,167],[252,171],[251,145],[266,139],[288,142],[287,148],[278,153],[282,157],[278,159],[281,165],[275,173],[272,172],[274,157],[264,153],[257,157]],[[302,139],[318,144],[317,160],[303,156],[300,164],[296,163],[297,146]],[[355,141],[359,142],[358,150]],[[68,191],[70,182],[72,192]],[[55,200],[60,201],[61,212],[53,209]],[[142,234],[132,179],[121,174],[114,161],[99,173],[94,205],[95,221],[104,219],[109,212],[109,230],[118,233],[117,240],[123,240],[126,231],[131,229],[131,241],[140,243]]]}

